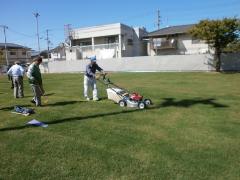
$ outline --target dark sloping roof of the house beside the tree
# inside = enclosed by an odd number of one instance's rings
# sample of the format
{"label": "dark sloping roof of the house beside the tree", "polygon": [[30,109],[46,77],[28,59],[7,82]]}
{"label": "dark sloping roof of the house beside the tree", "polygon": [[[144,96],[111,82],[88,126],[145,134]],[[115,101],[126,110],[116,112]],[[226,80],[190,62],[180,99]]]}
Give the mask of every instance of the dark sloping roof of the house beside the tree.
{"label": "dark sloping roof of the house beside the tree", "polygon": [[185,34],[194,25],[195,24],[188,24],[188,25],[171,26],[171,27],[162,28],[162,29],[159,29],[157,31],[153,31],[153,32],[148,33],[147,37]]}

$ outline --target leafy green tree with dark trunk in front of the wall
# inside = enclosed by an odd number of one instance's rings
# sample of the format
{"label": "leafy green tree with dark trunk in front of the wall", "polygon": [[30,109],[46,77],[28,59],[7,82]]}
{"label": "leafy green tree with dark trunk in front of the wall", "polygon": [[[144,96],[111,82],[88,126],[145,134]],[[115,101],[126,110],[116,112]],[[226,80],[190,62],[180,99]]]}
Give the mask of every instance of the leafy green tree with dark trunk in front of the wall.
{"label": "leafy green tree with dark trunk in front of the wall", "polygon": [[216,71],[221,68],[221,53],[230,43],[240,38],[240,21],[237,18],[224,18],[222,20],[201,20],[190,33],[193,37],[205,40],[214,49]]}

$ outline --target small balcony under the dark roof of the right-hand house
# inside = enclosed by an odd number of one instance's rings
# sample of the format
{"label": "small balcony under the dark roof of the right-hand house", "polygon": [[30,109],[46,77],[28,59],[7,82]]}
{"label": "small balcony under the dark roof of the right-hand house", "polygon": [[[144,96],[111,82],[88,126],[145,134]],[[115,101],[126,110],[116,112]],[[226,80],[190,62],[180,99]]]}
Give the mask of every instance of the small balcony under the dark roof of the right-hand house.
{"label": "small balcony under the dark roof of the right-hand house", "polygon": [[177,40],[176,39],[154,39],[153,49],[176,49]]}

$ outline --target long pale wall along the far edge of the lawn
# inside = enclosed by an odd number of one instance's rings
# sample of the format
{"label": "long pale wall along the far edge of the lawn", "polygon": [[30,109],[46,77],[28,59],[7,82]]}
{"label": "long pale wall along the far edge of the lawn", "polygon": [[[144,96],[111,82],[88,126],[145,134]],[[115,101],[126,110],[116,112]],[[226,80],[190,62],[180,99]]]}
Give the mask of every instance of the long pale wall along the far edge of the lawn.
{"label": "long pale wall along the far edge of the lawn", "polygon": [[[41,66],[42,72],[83,72],[89,60],[50,61]],[[213,56],[169,55],[142,56],[121,59],[101,59],[98,65],[105,71],[214,71]],[[223,54],[222,70],[240,71],[240,54]]]}

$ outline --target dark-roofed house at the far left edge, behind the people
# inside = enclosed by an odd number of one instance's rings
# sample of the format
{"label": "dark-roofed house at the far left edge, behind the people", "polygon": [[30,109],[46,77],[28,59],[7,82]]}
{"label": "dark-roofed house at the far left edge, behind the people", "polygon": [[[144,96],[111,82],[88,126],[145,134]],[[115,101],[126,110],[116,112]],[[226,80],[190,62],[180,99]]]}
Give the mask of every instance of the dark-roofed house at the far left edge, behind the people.
{"label": "dark-roofed house at the far left edge, behind the people", "polygon": [[[31,60],[31,49],[18,44],[6,43],[8,63],[15,61],[25,64]],[[6,65],[5,43],[0,43],[0,65]]]}

